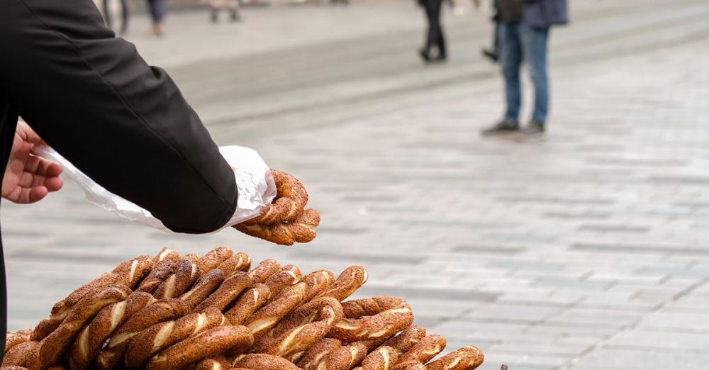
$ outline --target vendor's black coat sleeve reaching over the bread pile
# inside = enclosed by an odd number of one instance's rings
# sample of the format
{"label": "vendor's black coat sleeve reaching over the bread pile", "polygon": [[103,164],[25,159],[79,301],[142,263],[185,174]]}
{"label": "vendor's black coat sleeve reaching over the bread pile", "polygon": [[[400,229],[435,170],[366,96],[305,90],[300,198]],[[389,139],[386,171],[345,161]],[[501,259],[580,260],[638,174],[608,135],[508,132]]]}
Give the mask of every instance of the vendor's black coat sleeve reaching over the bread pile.
{"label": "vendor's black coat sleeve reaching over the bread pile", "polygon": [[0,94],[91,179],[177,232],[233,215],[233,172],[206,128],[91,0],[0,1],[0,45]]}

